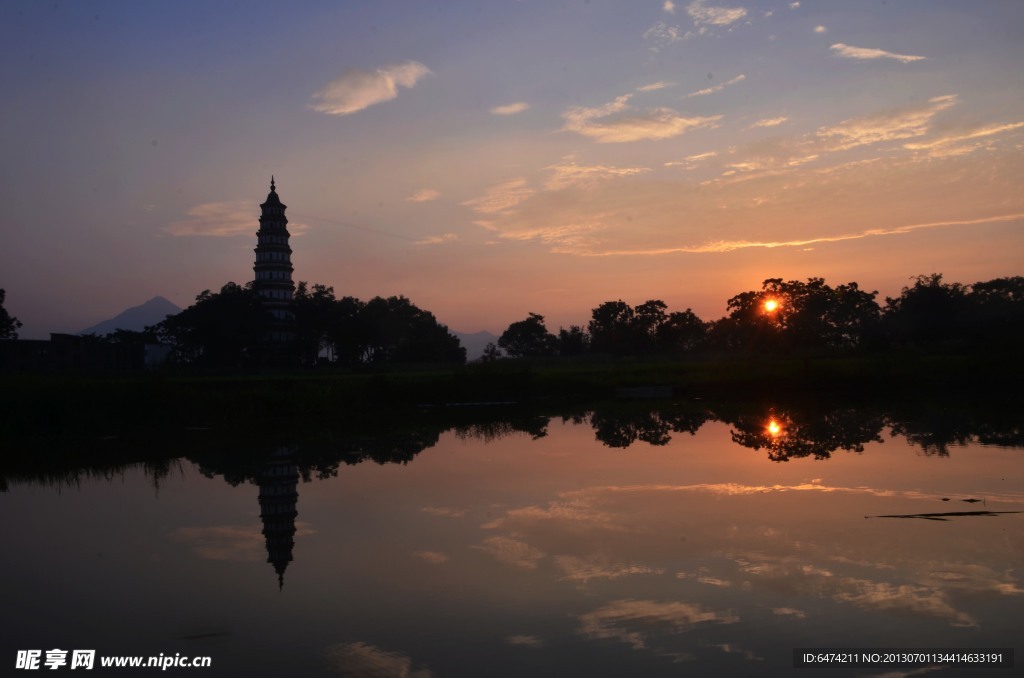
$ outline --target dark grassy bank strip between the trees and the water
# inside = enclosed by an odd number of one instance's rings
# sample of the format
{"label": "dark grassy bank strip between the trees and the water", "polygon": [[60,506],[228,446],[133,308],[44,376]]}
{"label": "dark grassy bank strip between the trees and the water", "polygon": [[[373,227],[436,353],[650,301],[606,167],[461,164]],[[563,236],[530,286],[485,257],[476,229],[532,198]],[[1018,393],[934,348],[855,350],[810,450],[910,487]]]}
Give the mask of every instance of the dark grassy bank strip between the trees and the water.
{"label": "dark grassy bank strip between the trees and the water", "polygon": [[658,388],[676,396],[743,397],[847,393],[877,397],[922,390],[1001,391],[1024,381],[1017,355],[886,353],[849,357],[670,361],[499,361],[459,368],[379,372],[140,375],[6,375],[0,436],[96,434],[231,421],[314,425],[394,416],[421,406],[569,402]]}

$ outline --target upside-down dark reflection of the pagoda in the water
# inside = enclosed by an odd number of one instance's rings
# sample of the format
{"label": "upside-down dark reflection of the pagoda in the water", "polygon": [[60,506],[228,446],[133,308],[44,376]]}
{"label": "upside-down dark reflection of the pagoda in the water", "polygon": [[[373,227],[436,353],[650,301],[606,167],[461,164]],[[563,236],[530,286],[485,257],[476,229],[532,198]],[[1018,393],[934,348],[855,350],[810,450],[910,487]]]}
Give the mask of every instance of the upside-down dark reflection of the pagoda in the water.
{"label": "upside-down dark reflection of the pagoda in the water", "polygon": [[291,448],[278,448],[259,480],[259,517],[266,539],[266,561],[278,573],[278,587],[285,586],[285,569],[295,546],[295,505],[299,501],[299,467]]}

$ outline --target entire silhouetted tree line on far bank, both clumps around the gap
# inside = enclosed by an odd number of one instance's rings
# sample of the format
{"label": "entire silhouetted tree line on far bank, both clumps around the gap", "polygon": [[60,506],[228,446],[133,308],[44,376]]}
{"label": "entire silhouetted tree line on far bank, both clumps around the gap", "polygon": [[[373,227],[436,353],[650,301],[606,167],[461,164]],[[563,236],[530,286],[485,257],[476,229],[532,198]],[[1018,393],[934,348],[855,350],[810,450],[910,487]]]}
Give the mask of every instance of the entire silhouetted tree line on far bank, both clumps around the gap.
{"label": "entire silhouetted tree line on far bank, both clumps around the gap", "polygon": [[[1008,350],[1024,339],[1024,277],[973,285],[918,276],[885,305],[857,283],[771,278],[726,302],[727,314],[707,322],[690,308],[670,311],[658,299],[631,306],[605,301],[586,326],[548,330],[540,313],[508,326],[482,361],[578,355],[648,356],[700,352],[848,353],[912,347]],[[0,338],[17,337],[20,322],[3,308]],[[143,332],[119,330],[96,341],[164,343],[181,365],[217,368],[268,363],[316,366],[463,364],[466,350],[429,311],[403,296],[361,301],[326,285],[300,282],[294,297],[293,342],[269,342],[273,319],[252,283],[205,290],[196,302]]]}

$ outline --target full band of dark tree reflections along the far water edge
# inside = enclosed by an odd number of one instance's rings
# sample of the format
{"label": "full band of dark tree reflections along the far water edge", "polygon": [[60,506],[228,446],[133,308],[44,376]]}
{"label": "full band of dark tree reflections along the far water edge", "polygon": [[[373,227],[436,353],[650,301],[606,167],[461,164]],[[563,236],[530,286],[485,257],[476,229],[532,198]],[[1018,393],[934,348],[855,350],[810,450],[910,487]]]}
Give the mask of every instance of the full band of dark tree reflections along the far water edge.
{"label": "full band of dark tree reflections along the far water edge", "polygon": [[[1024,421],[1015,400],[976,402],[973,408],[947,400],[921,400],[882,410],[855,405],[816,402],[779,406],[758,402],[664,401],[650,408],[641,404],[610,404],[588,412],[566,408],[557,415],[562,422],[589,425],[597,440],[610,448],[628,448],[643,441],[669,443],[674,434],[694,434],[707,421],[732,427],[732,440],[753,450],[766,450],[768,458],[785,461],[796,457],[827,459],[837,450],[860,453],[868,442],[881,442],[888,426],[893,437],[904,437],[925,455],[948,456],[950,448],[970,443],[1024,448]],[[777,430],[769,429],[772,417]],[[487,413],[458,412],[422,419],[381,416],[359,421],[351,430],[329,426],[298,432],[252,429],[184,432],[145,439],[77,440],[67,448],[7,454],[0,465],[0,492],[13,484],[41,484],[58,491],[96,479],[113,480],[141,469],[155,492],[173,473],[182,474],[182,461],[195,463],[210,478],[221,477],[231,485],[258,484],[266,455],[282,444],[294,448],[302,481],[338,475],[342,465],[372,461],[408,464],[424,450],[437,444],[445,431],[460,439],[490,442],[510,435],[537,439],[548,434],[552,417],[528,409],[502,409]],[[189,450],[181,457],[181,450]]]}

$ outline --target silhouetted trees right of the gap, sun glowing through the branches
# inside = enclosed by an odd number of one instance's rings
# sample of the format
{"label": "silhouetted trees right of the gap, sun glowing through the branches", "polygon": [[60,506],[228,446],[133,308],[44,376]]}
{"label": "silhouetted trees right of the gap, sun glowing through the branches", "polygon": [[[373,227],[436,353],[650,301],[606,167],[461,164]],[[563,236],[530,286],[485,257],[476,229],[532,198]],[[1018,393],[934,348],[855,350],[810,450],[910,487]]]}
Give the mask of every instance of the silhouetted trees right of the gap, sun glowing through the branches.
{"label": "silhouetted trees right of the gap, sun glowing through the branches", "polygon": [[770,278],[760,290],[726,302],[713,322],[691,309],[669,312],[664,301],[638,306],[605,301],[586,327],[550,332],[530,312],[484,350],[502,356],[678,355],[725,352],[851,352],[914,347],[930,350],[1005,349],[1024,339],[1024,277],[974,285],[945,283],[940,273],[918,276],[897,297],[878,303],[878,292],[857,283],[831,287],[821,278]]}

